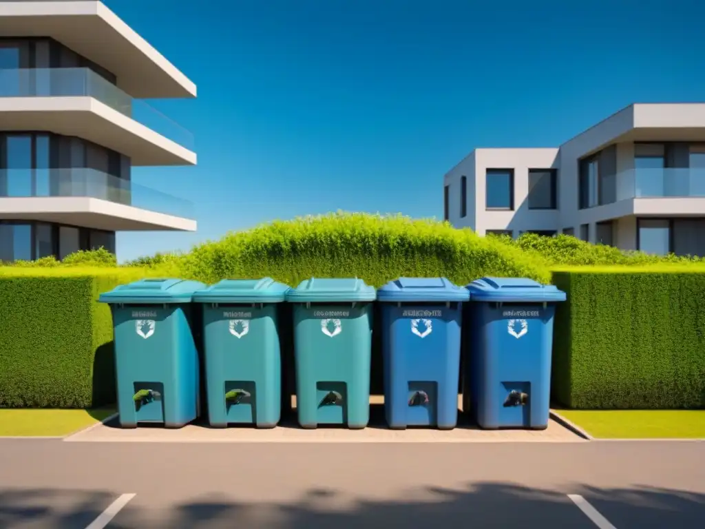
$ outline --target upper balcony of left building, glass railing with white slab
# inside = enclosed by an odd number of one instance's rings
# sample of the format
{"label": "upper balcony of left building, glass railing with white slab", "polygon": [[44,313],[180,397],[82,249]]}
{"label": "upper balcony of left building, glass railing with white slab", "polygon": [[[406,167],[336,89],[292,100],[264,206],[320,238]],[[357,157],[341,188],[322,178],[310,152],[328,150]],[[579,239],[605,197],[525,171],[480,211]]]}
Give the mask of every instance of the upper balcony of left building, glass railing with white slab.
{"label": "upper balcony of left building, glass railing with white slab", "polygon": [[195,164],[193,135],[89,68],[0,70],[4,130],[51,130],[94,141],[135,165]]}

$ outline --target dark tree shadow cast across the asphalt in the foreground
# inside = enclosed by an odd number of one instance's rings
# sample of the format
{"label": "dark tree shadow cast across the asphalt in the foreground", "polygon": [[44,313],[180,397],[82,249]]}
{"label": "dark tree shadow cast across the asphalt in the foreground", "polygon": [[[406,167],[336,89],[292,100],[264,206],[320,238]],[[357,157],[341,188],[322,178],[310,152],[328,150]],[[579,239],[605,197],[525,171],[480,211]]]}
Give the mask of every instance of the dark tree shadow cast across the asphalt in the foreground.
{"label": "dark tree shadow cast across the asphalt in the foreground", "polygon": [[[233,477],[233,492],[247,486]],[[410,488],[405,499],[374,501],[321,488],[287,504],[232,501],[204,493],[181,504],[150,501],[137,492],[108,529],[137,528],[575,528],[595,529],[566,494],[582,494],[617,529],[703,527],[705,494],[649,487],[537,490],[483,482],[466,490]],[[0,527],[83,529],[121,492],[0,491]]]}

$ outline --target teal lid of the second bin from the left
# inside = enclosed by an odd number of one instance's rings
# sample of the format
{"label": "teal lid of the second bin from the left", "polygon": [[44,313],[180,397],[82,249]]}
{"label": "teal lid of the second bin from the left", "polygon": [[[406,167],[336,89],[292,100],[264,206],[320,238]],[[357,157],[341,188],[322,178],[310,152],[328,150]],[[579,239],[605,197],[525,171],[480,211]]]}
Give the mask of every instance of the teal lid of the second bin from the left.
{"label": "teal lid of the second bin from the left", "polygon": [[223,279],[193,294],[196,303],[281,303],[288,285],[271,277],[262,279]]}

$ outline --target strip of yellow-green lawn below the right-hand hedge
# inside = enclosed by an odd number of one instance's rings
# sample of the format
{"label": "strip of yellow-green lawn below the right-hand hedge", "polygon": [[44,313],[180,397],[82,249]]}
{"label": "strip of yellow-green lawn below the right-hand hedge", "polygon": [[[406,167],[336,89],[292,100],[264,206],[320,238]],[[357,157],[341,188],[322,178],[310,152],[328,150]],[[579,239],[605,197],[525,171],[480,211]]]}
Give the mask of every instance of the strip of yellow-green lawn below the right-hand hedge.
{"label": "strip of yellow-green lawn below the right-hand hedge", "polygon": [[705,410],[556,410],[602,439],[705,439]]}

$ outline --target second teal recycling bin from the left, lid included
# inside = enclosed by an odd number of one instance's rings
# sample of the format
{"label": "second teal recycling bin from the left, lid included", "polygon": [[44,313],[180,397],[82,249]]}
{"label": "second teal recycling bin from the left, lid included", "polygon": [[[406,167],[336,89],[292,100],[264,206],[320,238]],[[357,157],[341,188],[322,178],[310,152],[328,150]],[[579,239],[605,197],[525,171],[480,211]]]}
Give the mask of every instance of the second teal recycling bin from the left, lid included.
{"label": "second teal recycling bin from the left, lid included", "polygon": [[203,306],[208,421],[273,428],[281,415],[278,305],[287,285],[223,279],[193,295]]}

